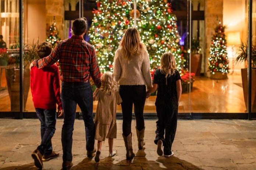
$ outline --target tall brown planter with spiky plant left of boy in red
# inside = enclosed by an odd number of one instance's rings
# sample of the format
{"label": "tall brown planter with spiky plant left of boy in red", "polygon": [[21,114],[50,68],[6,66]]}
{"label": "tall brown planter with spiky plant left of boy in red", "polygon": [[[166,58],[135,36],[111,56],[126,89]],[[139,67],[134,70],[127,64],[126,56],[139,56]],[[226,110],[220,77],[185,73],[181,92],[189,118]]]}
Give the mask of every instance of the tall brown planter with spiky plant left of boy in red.
{"label": "tall brown planter with spiky plant left of boy in red", "polygon": [[[19,46],[18,43],[15,43],[14,49],[8,49],[8,64],[6,67],[6,81],[7,81],[7,89],[11,101],[11,111],[19,111]],[[23,97],[24,97],[24,105],[26,105],[26,101],[28,99],[28,92],[30,86],[30,70],[29,64],[38,58],[36,53],[36,47],[38,45],[38,41],[32,42],[32,44],[26,44],[24,46],[24,55],[23,55]]]}

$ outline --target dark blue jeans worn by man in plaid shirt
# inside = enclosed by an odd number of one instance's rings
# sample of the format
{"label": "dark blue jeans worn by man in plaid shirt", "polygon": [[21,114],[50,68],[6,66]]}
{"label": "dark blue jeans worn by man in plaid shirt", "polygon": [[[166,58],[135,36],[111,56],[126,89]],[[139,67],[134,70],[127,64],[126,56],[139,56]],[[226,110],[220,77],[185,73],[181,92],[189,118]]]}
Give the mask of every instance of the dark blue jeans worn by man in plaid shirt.
{"label": "dark blue jeans worn by man in plaid shirt", "polygon": [[64,111],[64,123],[61,131],[63,161],[72,160],[72,135],[77,104],[81,109],[85,124],[86,150],[94,149],[95,125],[92,116],[93,97],[89,82],[62,82],[61,102]]}

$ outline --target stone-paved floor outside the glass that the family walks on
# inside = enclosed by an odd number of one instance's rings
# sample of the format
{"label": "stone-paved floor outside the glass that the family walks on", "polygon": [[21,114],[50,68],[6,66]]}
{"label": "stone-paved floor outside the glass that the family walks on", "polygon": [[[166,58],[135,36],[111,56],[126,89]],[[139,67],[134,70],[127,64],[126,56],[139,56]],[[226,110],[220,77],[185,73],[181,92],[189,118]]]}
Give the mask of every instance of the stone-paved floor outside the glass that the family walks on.
{"label": "stone-paved floor outside the glass that the family walks on", "polygon": [[[44,162],[45,170],[61,170],[62,119],[57,120],[53,136],[58,158]],[[255,170],[256,121],[247,120],[179,120],[174,156],[158,156],[153,143],[156,120],[145,121],[145,150],[138,151],[135,121],[132,122],[132,142],[135,158],[125,159],[122,121],[117,121],[117,155],[108,156],[108,143],[103,144],[100,162],[86,157],[83,121],[76,119],[73,135],[73,163],[71,170]],[[0,119],[0,170],[36,170],[31,157],[40,144],[38,119]],[[96,146],[96,143],[95,143]]]}

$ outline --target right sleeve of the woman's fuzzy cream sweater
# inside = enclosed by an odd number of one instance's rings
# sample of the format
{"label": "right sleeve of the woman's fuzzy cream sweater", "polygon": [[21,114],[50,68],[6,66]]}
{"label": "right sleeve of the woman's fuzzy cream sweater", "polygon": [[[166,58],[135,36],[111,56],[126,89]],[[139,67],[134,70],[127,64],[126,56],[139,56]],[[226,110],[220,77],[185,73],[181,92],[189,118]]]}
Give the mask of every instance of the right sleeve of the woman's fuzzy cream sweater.
{"label": "right sleeve of the woman's fuzzy cream sweater", "polygon": [[143,54],[142,74],[146,81],[147,89],[150,89],[152,87],[152,78],[150,74],[149,54],[147,52]]}

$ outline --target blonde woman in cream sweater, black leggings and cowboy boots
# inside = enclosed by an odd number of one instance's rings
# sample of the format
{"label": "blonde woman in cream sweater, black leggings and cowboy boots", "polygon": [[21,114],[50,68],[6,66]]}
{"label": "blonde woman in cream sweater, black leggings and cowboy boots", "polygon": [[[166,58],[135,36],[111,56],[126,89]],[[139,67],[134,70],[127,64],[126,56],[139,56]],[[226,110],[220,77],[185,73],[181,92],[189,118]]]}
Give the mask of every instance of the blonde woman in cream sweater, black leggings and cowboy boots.
{"label": "blonde woman in cream sweater, black leggings and cowboy boots", "polygon": [[126,158],[131,160],[135,154],[132,149],[132,106],[136,118],[136,134],[138,148],[143,149],[145,123],[143,117],[146,100],[146,88],[152,86],[150,62],[146,46],[135,27],[126,30],[119,48],[115,52],[114,72],[115,80],[120,85],[119,92],[122,98],[122,136],[126,147]]}

